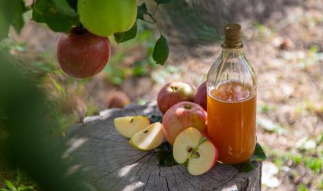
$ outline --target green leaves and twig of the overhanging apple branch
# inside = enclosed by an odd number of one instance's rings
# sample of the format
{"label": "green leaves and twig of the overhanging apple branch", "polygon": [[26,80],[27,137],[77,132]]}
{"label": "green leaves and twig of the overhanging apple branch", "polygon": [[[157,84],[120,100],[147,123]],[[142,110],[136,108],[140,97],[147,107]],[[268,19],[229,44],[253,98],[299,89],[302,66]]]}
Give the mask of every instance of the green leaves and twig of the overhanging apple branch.
{"label": "green leaves and twig of the overhanging apple branch", "polygon": [[[153,13],[149,13],[147,5],[142,3],[138,6],[137,19],[158,25],[154,14],[158,5],[170,3],[170,0],[156,0],[156,8]],[[25,7],[23,0],[0,1],[0,40],[8,36],[10,25],[19,33],[24,25],[23,12],[32,10],[32,19],[38,23],[46,23],[54,32],[69,32],[71,27],[82,25],[77,14],[77,0],[36,0],[32,5]],[[152,21],[147,21],[145,15]],[[158,29],[159,25],[158,25]],[[126,32],[114,34],[117,43],[123,43],[135,38],[137,34],[137,24]],[[156,63],[163,65],[167,60],[169,49],[165,36],[161,35],[156,42],[153,58]]]}

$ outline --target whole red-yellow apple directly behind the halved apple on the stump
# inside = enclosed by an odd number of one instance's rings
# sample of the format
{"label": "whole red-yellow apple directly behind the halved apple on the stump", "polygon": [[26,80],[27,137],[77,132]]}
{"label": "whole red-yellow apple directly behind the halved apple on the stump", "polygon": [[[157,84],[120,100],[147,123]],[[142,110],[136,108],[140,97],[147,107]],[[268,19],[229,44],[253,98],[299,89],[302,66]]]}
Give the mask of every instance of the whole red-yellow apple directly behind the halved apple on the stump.
{"label": "whole red-yellow apple directly behind the halved apple on the stump", "polygon": [[170,144],[174,144],[180,132],[192,126],[201,132],[207,131],[207,113],[193,102],[179,102],[171,106],[163,117],[164,134]]}

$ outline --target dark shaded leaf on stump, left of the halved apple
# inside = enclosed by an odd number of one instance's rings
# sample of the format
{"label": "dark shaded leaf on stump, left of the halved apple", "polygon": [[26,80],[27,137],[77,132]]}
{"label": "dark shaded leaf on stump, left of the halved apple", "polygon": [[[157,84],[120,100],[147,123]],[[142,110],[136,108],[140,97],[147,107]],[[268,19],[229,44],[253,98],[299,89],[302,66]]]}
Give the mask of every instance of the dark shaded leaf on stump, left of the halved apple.
{"label": "dark shaded leaf on stump, left of the halved apple", "polygon": [[177,164],[173,157],[173,148],[168,142],[155,148],[155,152],[159,166],[174,166]]}

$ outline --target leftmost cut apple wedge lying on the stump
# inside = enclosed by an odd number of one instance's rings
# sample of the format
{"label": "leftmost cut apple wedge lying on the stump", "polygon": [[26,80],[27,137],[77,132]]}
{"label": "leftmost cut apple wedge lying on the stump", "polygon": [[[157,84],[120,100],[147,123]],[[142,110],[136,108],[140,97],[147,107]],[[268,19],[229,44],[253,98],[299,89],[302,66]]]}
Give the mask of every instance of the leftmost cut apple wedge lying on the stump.
{"label": "leftmost cut apple wedge lying on the stump", "polygon": [[115,129],[123,137],[131,138],[141,129],[149,126],[150,121],[146,116],[127,116],[115,118]]}

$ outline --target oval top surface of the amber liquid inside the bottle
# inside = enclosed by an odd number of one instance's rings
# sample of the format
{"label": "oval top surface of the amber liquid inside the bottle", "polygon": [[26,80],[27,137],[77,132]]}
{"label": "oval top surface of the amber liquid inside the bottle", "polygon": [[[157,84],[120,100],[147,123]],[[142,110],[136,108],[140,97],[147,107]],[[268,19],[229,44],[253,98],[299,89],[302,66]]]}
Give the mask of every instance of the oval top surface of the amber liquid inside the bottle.
{"label": "oval top surface of the amber liquid inside the bottle", "polygon": [[248,85],[234,80],[226,80],[219,84],[217,89],[211,91],[211,95],[226,102],[239,102],[252,95],[252,89]]}

